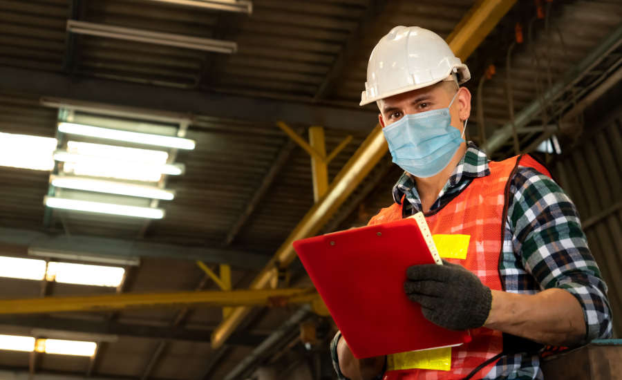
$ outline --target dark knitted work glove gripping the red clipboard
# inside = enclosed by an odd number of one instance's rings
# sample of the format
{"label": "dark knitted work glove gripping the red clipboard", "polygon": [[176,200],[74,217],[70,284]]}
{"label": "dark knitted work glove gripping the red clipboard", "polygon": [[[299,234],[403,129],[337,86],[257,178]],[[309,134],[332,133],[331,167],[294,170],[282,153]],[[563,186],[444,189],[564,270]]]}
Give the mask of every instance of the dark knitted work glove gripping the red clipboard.
{"label": "dark knitted work glove gripping the red clipboard", "polygon": [[492,294],[461,265],[413,265],[406,269],[404,291],[435,325],[449,330],[482,327],[490,313]]}

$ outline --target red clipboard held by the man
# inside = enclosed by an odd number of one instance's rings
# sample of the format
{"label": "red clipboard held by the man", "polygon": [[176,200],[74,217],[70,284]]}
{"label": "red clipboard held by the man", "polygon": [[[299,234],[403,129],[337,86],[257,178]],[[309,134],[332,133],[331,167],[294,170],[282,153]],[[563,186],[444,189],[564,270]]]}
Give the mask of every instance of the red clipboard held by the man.
{"label": "red clipboard held by the man", "polygon": [[[433,264],[431,234],[406,218],[294,241],[294,249],[355,357],[471,341],[423,316],[404,293],[406,268]],[[433,243],[432,243],[433,244]],[[433,245],[432,245],[433,246]],[[435,248],[433,248],[435,250]]]}

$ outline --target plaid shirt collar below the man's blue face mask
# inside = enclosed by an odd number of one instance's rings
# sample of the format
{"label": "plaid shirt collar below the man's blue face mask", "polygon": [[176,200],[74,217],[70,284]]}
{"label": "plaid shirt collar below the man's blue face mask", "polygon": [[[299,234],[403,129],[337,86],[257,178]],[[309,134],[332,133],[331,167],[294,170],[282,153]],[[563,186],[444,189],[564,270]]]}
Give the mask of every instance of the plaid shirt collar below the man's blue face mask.
{"label": "plaid shirt collar below the man's blue face mask", "polygon": [[[453,169],[453,173],[447,180],[447,183],[441,190],[439,197],[442,196],[449,189],[458,186],[462,178],[478,178],[490,175],[490,169],[488,167],[489,159],[474,142],[469,142],[466,147],[466,153]],[[415,187],[415,181],[406,172],[397,180],[395,186],[393,186],[393,201],[398,205],[402,204],[402,197],[408,194],[408,196],[415,196],[419,198],[419,193]]]}

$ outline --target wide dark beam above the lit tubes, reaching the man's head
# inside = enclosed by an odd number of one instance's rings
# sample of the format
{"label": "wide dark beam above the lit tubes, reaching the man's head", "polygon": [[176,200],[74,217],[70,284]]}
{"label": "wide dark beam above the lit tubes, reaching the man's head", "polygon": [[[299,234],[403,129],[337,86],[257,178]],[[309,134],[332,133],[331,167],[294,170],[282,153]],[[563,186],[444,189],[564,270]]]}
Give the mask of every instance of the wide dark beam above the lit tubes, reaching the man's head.
{"label": "wide dark beam above the lit tubes, reaching the man's head", "polygon": [[69,77],[61,73],[8,66],[0,66],[0,91],[268,124],[284,121],[290,124],[323,125],[359,133],[370,131],[371,128],[366,129],[365,126],[376,115],[373,111],[357,108],[223,95],[91,77]]}

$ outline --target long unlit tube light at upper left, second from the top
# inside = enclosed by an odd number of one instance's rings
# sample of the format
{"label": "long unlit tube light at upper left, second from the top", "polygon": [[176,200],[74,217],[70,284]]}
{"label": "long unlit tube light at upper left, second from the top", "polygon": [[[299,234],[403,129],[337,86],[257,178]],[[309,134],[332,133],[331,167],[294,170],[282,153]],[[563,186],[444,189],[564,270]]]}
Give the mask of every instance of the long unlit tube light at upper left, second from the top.
{"label": "long unlit tube light at upper left, second from the top", "polygon": [[238,44],[234,41],[175,35],[172,33],[124,28],[122,26],[111,26],[86,21],[67,20],[67,31],[79,35],[124,39],[128,41],[146,42],[147,44],[176,46],[178,48],[205,50],[215,53],[231,54],[238,50]]}

